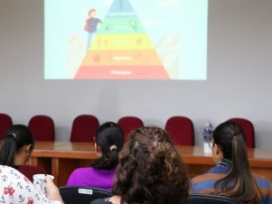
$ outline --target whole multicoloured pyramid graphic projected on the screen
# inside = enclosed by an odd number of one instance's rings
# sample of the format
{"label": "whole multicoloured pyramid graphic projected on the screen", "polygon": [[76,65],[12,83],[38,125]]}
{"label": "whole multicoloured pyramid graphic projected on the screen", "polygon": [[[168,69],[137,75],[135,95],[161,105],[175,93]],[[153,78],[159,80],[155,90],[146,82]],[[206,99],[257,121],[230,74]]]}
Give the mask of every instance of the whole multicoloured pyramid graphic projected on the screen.
{"label": "whole multicoloured pyramid graphic projected on the screen", "polygon": [[169,79],[129,0],[114,0],[75,79]]}

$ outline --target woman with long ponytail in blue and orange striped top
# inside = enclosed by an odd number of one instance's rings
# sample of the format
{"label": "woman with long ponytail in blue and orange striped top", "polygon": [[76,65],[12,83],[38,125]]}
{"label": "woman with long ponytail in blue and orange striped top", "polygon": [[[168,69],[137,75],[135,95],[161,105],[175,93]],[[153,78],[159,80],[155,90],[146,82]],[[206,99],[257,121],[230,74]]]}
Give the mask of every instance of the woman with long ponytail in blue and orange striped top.
{"label": "woman with long ponytail in blue and orange striped top", "polygon": [[217,126],[212,134],[212,156],[217,166],[192,179],[192,192],[218,194],[244,203],[272,203],[267,178],[250,171],[242,128],[232,122]]}

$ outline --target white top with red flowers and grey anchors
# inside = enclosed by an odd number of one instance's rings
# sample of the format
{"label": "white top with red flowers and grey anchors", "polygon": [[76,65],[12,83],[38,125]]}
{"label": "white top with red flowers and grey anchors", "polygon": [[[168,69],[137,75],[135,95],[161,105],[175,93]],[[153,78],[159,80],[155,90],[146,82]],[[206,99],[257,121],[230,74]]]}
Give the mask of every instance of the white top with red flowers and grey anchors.
{"label": "white top with red flowers and grey anchors", "polygon": [[0,203],[61,204],[61,201],[48,200],[21,172],[0,165]]}

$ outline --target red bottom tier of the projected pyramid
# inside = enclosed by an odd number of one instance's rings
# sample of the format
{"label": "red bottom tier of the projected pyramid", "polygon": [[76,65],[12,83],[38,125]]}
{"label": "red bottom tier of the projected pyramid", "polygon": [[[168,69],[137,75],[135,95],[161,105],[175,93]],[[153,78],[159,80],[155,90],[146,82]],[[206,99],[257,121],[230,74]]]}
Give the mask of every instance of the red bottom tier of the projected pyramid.
{"label": "red bottom tier of the projected pyramid", "polygon": [[163,66],[81,66],[75,79],[169,79]]}

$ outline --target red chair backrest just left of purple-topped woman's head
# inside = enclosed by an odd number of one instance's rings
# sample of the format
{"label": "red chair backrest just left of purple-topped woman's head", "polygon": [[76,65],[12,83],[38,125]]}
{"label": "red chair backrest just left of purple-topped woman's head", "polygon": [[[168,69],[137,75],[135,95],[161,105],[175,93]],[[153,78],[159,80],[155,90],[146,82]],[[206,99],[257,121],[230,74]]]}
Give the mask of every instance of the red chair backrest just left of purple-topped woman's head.
{"label": "red chair backrest just left of purple-topped woman's head", "polygon": [[99,121],[96,116],[80,115],[72,123],[70,142],[94,142]]}

